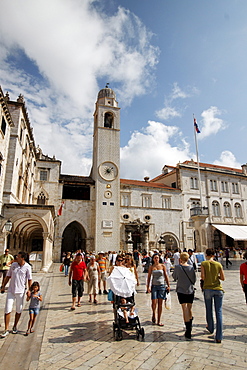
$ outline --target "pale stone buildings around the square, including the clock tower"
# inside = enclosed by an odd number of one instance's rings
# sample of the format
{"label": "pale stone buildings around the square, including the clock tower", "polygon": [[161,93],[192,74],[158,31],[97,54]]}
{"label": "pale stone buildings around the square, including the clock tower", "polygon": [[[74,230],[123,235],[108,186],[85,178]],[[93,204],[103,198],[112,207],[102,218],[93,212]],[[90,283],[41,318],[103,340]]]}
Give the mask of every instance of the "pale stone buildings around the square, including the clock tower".
{"label": "pale stone buildings around the square, including the clock tower", "polygon": [[0,108],[0,252],[36,254],[47,271],[78,249],[246,247],[246,166],[200,164],[202,199],[193,161],[151,180],[120,179],[120,108],[110,88],[95,105],[89,176],[61,174],[61,161],[36,146],[23,96],[11,101],[0,90]]}

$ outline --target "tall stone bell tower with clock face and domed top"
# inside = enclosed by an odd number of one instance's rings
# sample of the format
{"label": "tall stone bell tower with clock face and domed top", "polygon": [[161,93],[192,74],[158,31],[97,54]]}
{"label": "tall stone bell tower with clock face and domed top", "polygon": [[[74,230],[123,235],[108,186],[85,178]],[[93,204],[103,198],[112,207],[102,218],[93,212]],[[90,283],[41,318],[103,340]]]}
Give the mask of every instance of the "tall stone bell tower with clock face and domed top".
{"label": "tall stone bell tower with clock face and domed top", "polygon": [[115,92],[100,90],[94,112],[95,251],[120,248],[120,108]]}

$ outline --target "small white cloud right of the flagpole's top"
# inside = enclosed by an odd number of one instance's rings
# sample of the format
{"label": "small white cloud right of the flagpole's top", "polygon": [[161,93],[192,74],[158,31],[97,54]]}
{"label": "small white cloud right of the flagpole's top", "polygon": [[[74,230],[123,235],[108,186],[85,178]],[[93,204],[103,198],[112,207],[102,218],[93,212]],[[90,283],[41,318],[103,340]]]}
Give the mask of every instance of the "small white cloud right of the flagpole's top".
{"label": "small white cloud right of the flagpole's top", "polygon": [[201,131],[198,135],[198,139],[204,139],[210,135],[215,135],[220,130],[224,130],[226,128],[225,122],[221,118],[216,117],[221,114],[222,111],[213,106],[202,112],[202,122],[198,124]]}

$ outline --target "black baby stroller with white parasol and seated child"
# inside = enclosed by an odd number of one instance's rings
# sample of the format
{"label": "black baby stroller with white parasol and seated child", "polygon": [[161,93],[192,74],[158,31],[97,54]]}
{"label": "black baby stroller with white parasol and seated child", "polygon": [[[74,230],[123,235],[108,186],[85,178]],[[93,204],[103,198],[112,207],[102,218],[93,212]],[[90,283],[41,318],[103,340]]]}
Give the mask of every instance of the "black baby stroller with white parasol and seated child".
{"label": "black baby stroller with white parasol and seated child", "polygon": [[[113,291],[114,338],[120,341],[123,339],[123,330],[135,330],[136,339],[140,339],[140,337],[143,339],[145,336],[144,328],[141,327],[137,312],[134,311],[136,280],[133,274],[126,267],[115,266],[108,277],[108,282]],[[124,310],[129,312],[128,322],[123,314]]]}

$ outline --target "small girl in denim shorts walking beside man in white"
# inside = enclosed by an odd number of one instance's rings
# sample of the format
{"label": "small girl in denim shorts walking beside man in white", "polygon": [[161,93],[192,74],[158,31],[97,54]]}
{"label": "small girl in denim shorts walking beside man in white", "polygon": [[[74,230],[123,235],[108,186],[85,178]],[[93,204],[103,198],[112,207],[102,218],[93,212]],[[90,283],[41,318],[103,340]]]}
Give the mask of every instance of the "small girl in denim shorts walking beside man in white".
{"label": "small girl in denim shorts walking beside man in white", "polygon": [[33,333],[33,326],[35,323],[36,316],[39,313],[40,309],[40,302],[42,301],[42,295],[40,293],[40,286],[37,281],[34,281],[31,285],[29,291],[27,292],[27,301],[30,300],[29,305],[29,322],[28,322],[28,328],[26,331],[26,336],[28,336],[28,332]]}

